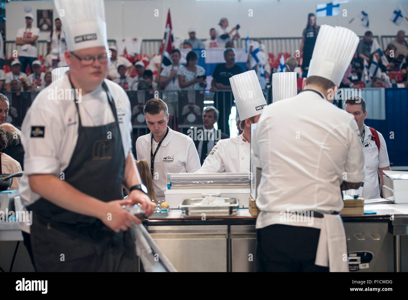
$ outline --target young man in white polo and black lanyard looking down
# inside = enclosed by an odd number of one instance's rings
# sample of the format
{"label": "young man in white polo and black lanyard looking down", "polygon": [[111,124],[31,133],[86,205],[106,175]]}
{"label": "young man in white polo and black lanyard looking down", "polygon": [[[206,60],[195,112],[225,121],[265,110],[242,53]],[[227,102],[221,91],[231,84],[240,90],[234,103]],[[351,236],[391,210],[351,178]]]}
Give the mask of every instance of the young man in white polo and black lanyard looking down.
{"label": "young man in white polo and black lanyard looking down", "polygon": [[156,200],[164,199],[167,173],[194,173],[200,169],[200,158],[193,140],[174,131],[169,122],[169,110],[162,99],[150,99],[144,105],[144,118],[150,133],[136,141],[136,158],[150,162]]}

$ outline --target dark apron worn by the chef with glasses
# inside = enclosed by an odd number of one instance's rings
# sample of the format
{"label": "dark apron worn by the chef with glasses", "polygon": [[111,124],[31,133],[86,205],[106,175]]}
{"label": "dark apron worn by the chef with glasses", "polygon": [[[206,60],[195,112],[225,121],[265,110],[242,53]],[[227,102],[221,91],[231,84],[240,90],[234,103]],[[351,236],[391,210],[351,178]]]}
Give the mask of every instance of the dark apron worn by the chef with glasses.
{"label": "dark apron worn by the chef with glasses", "polygon": [[[115,104],[104,82],[102,87],[115,121],[84,127],[75,102],[78,141],[62,176],[77,190],[108,202],[123,198],[125,157]],[[31,247],[36,271],[137,271],[130,230],[115,233],[97,218],[65,210],[44,198],[27,208],[33,211]]]}

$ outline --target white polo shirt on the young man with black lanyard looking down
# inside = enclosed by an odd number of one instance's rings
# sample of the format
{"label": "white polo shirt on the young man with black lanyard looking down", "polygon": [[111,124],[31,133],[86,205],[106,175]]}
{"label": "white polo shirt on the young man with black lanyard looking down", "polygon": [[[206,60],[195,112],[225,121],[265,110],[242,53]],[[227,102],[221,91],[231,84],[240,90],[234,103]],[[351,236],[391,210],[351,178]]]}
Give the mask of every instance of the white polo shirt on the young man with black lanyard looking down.
{"label": "white polo shirt on the young man with black lanyard looking down", "polygon": [[[142,135],[136,141],[137,160],[144,159],[149,165],[150,151],[154,154],[158,145],[154,139],[151,144],[151,136],[152,133]],[[169,128],[169,133],[157,150],[153,168],[155,200],[161,201],[167,189],[167,173],[194,173],[201,168],[200,158],[191,137]]]}

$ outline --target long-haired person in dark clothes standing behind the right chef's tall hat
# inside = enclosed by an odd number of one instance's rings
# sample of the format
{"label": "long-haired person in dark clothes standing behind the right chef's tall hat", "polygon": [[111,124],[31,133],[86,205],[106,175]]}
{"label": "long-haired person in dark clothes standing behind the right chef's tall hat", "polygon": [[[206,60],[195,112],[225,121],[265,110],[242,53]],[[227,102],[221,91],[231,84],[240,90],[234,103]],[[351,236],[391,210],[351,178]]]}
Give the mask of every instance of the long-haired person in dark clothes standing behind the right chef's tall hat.
{"label": "long-haired person in dark clothes standing behind the right chef's tall hat", "polygon": [[319,33],[319,26],[316,24],[316,16],[314,13],[309,13],[307,17],[306,28],[302,33],[302,43],[300,44],[300,57],[303,57],[302,62],[302,77],[306,77],[310,60],[312,59],[313,49],[315,49],[315,43],[317,34]]}

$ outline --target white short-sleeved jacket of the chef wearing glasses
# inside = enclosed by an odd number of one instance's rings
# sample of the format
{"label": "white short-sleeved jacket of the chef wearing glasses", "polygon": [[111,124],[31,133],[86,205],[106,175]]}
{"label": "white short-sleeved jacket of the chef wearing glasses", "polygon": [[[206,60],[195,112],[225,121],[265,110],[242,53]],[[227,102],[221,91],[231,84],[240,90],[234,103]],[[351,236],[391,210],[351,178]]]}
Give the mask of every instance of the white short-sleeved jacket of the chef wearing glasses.
{"label": "white short-sleeved jacket of the chef wearing glasses", "polygon": [[[114,82],[105,79],[118,115],[124,157],[131,151],[131,109],[126,92]],[[73,99],[58,99],[59,93],[71,88],[67,75],[51,83],[34,99],[22,123],[24,147],[24,176],[20,195],[25,205],[39,198],[31,192],[28,175],[54,174],[60,177],[72,159],[78,139],[78,113]],[[99,86],[78,99],[82,126],[101,126],[113,122],[106,92]],[[107,135],[109,132],[106,133]]]}

